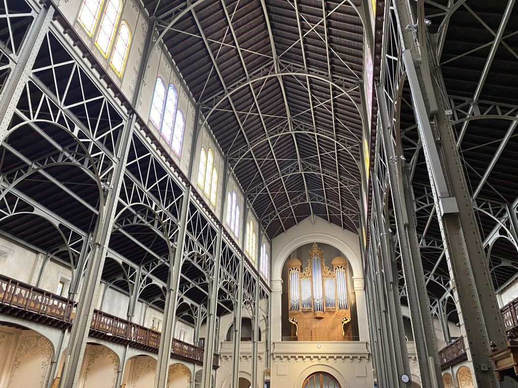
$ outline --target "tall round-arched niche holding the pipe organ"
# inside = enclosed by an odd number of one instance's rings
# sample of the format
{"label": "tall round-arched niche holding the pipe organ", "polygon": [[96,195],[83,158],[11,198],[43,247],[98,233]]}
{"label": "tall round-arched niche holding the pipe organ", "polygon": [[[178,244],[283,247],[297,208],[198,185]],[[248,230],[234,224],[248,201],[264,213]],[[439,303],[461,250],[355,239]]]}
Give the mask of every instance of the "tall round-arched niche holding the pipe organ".
{"label": "tall round-arched niche holding the pipe organ", "polygon": [[358,340],[352,273],[347,256],[334,245],[310,242],[290,252],[281,275],[282,340]]}

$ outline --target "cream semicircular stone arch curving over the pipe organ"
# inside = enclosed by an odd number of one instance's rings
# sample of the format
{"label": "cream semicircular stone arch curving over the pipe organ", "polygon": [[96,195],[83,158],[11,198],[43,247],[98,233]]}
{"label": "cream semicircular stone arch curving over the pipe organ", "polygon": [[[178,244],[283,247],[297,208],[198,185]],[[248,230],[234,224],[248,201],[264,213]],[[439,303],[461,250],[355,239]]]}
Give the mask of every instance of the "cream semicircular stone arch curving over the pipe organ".
{"label": "cream semicircular stone arch curving over the pipe organ", "polygon": [[272,268],[272,279],[281,279],[282,278],[282,267],[285,263],[285,259],[300,246],[309,243],[324,243],[334,246],[339,249],[345,256],[346,259],[351,264],[351,268],[353,270],[353,277],[355,278],[363,278],[363,264],[359,257],[353,252],[351,247],[344,243],[339,238],[325,234],[325,233],[307,233],[301,236],[294,238],[290,243],[286,244],[279,255],[274,259],[275,263]]}

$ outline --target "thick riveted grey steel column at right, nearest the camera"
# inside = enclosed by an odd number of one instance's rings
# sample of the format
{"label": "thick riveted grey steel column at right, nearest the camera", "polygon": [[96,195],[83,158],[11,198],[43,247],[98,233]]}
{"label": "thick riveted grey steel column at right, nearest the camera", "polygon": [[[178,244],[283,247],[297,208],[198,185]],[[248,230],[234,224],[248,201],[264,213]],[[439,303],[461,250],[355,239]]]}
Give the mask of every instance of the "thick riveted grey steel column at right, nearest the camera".
{"label": "thick riveted grey steel column at right, nearest the camera", "polygon": [[[415,25],[407,2],[398,0],[396,11],[400,27]],[[490,341],[494,341],[497,348],[505,347],[505,330],[463,164],[446,115],[449,110],[448,94],[436,59],[431,56],[421,57],[420,52],[423,52],[423,47],[426,48],[427,41],[416,41],[408,28],[401,28],[400,34],[412,104],[453,280],[454,300],[461,331],[466,333],[468,362],[472,364],[477,386],[497,387],[492,363],[488,359]],[[422,63],[431,69],[435,81],[433,87],[424,82]],[[436,139],[441,139],[441,142],[438,143]]]}

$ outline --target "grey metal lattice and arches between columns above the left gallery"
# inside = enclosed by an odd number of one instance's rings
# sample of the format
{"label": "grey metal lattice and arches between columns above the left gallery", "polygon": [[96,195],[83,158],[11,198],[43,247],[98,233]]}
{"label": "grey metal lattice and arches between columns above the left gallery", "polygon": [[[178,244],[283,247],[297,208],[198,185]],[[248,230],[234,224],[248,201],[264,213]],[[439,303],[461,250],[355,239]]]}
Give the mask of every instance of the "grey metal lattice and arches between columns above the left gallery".
{"label": "grey metal lattice and arches between columns above the left gallery", "polygon": [[[1,148],[0,229],[8,238],[68,265],[74,272],[75,287],[70,291],[74,295],[91,259],[91,232],[99,206],[113,189],[114,155],[128,116],[54,29],[41,34],[28,80],[17,85],[20,98]],[[177,240],[184,188],[183,177],[172,173],[145,134],[134,131],[129,143],[100,278],[130,295],[132,319],[137,300],[164,308],[170,247]],[[179,282],[183,302],[177,316],[194,323],[195,310],[202,311],[207,304],[207,277],[213,271],[221,224],[195,196],[188,203]],[[232,276],[222,295],[235,287],[237,263],[247,260],[225,234],[223,246],[227,245],[236,253],[226,255],[225,268]],[[246,273],[258,276],[253,268]],[[268,287],[264,281],[260,284],[267,295]],[[255,290],[247,287],[245,292]],[[232,310],[233,304],[221,298],[217,314]]]}

